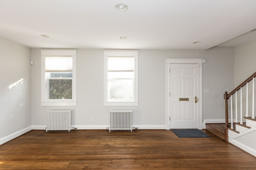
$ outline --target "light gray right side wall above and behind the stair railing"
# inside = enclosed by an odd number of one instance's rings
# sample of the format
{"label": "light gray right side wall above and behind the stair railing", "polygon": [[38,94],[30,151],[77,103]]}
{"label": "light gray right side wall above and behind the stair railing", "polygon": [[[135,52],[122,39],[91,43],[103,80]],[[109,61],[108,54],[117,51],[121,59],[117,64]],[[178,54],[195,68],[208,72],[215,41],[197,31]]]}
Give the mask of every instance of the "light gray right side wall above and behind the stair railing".
{"label": "light gray right side wall above and behind the stair railing", "polygon": [[[235,87],[240,85],[244,80],[256,72],[256,41],[247,42],[235,47]],[[256,83],[256,81],[255,81]],[[248,83],[248,112],[249,116],[252,114],[252,82]],[[240,117],[240,90],[237,92],[238,98],[238,115]],[[234,95],[235,97],[235,95]],[[255,96],[256,98],[256,96]],[[246,86],[242,88],[242,113],[243,117],[246,115]],[[256,102],[256,101],[255,101]],[[255,105],[255,103],[254,103]],[[256,113],[256,110],[254,110]],[[240,118],[238,118],[240,120]],[[243,121],[245,119],[243,118]]]}

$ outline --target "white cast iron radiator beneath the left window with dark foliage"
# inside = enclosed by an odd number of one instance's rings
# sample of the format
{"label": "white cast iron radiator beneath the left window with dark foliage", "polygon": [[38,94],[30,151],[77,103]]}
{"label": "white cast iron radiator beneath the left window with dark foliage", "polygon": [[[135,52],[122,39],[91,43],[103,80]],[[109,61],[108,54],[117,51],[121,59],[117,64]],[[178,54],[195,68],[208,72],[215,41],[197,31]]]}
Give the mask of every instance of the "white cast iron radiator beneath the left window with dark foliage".
{"label": "white cast iron radiator beneath the left window with dark foliage", "polygon": [[47,110],[46,131],[70,131],[72,110]]}

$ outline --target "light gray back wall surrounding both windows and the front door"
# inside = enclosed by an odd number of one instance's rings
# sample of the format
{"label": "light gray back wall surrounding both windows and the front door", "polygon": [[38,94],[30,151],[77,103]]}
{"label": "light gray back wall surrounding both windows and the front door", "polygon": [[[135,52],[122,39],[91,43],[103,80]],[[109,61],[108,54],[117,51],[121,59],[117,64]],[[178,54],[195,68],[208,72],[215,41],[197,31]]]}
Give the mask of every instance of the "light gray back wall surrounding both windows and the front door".
{"label": "light gray back wall surrounding both windows and the front door", "polygon": [[[104,98],[104,57],[102,49],[77,51],[77,106],[42,107],[41,51],[32,49],[32,124],[45,125],[46,110],[73,110],[73,125],[107,125],[108,110],[134,110],[134,125],[166,124],[165,58],[205,58],[203,64],[203,120],[224,119],[223,93],[234,88],[234,48],[215,47],[206,51],[140,50],[138,71],[139,106],[107,107]],[[232,82],[232,83],[230,83]],[[91,118],[94,117],[94,121]]]}

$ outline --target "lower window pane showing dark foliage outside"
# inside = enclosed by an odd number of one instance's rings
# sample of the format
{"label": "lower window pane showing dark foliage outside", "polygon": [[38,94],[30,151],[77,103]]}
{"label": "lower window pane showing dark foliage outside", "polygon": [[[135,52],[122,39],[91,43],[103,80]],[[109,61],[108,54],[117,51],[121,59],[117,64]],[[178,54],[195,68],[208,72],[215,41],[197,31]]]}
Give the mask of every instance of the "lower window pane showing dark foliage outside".
{"label": "lower window pane showing dark foliage outside", "polygon": [[49,99],[72,99],[72,80],[49,79]]}

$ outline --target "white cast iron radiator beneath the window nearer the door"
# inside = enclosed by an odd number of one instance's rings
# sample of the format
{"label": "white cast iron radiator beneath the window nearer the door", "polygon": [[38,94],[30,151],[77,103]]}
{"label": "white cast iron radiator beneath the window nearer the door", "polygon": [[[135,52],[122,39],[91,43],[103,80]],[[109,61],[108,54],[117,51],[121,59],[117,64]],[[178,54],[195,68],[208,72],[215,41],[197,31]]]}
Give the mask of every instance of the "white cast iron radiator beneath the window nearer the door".
{"label": "white cast iron radiator beneath the window nearer the door", "polygon": [[132,131],[132,110],[110,110],[109,131]]}

